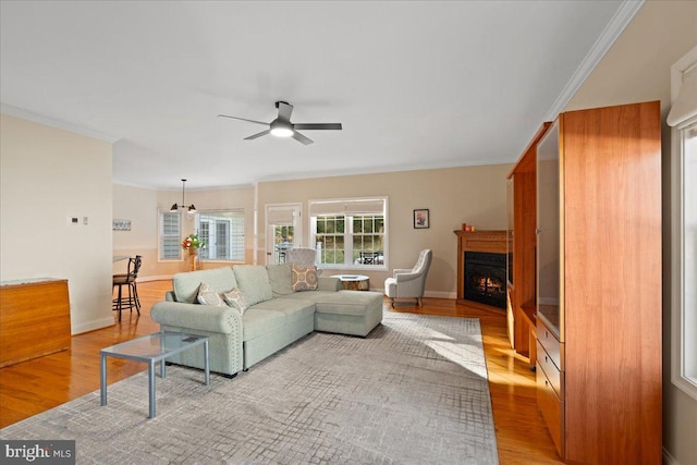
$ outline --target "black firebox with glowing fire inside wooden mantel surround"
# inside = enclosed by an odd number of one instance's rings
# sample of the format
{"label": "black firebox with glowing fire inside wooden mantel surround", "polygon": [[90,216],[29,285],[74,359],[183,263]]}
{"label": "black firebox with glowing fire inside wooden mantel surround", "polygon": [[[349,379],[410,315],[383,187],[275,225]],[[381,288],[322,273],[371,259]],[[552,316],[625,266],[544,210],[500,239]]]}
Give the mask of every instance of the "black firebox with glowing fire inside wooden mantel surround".
{"label": "black firebox with glowing fire inside wooden mantel surround", "polygon": [[505,308],[505,254],[465,252],[464,291],[467,301]]}

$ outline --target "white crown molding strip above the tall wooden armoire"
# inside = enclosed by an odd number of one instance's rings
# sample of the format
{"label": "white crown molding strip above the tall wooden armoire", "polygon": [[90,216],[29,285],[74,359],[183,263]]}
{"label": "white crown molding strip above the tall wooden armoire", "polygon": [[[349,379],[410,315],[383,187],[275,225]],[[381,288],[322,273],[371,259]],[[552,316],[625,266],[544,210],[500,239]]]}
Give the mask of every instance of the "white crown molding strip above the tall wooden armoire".
{"label": "white crown molding strip above the tall wooden armoire", "polygon": [[610,50],[610,47],[612,47],[622,32],[624,32],[624,28],[634,19],[644,3],[645,0],[624,0],[622,2],[610,23],[586,54],[586,58],[580,62],[571,76],[571,79],[568,79],[559,97],[557,97],[557,100],[552,103],[552,107],[545,117],[545,121],[554,121],[557,119],[557,115],[566,107],[584,81],[586,81],[592,70],[596,69],[602,57]]}

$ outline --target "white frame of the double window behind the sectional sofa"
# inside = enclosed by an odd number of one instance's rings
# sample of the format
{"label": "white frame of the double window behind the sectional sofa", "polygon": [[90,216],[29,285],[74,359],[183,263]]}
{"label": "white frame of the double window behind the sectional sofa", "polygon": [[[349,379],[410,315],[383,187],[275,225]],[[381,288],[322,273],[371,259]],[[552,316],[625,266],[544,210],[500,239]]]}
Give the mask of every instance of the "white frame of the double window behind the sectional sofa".
{"label": "white frame of the double window behind the sectional sofa", "polygon": [[[375,217],[380,213],[371,212],[371,213],[360,213],[360,212],[352,212],[344,211],[343,213],[327,213],[327,215],[313,215],[313,205],[314,204],[352,204],[352,203],[370,203],[370,201],[381,201],[382,203],[382,224],[383,231],[382,235],[382,264],[380,265],[363,265],[363,264],[354,264],[353,260],[353,243],[354,237],[359,235],[365,235],[365,233],[355,234],[354,233],[354,218],[355,217]],[[375,197],[354,197],[354,198],[332,198],[332,199],[317,199],[308,201],[308,211],[309,211],[309,242],[315,248],[317,246],[317,218],[318,217],[332,217],[332,216],[341,216],[344,217],[344,262],[343,264],[318,264],[319,268],[326,269],[335,269],[335,270],[355,270],[355,271],[388,271],[389,270],[389,203],[387,196],[375,196]],[[335,234],[334,234],[335,236]],[[348,259],[347,257],[352,257]],[[348,260],[348,262],[347,262]]]}

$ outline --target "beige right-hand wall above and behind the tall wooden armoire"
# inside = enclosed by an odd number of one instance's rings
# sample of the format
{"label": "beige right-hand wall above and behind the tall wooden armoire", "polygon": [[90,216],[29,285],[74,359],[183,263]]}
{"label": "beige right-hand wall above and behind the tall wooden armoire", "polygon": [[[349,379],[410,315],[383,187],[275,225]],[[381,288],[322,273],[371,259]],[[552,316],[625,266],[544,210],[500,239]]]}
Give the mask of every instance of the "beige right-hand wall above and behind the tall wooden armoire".
{"label": "beige right-hand wall above and behind the tall wooden armoire", "polygon": [[[661,101],[670,110],[670,68],[697,45],[697,2],[649,1],[586,79],[565,110]],[[671,132],[663,124],[663,448],[667,460],[697,464],[697,402],[670,380]],[[657,347],[658,350],[658,347]]]}

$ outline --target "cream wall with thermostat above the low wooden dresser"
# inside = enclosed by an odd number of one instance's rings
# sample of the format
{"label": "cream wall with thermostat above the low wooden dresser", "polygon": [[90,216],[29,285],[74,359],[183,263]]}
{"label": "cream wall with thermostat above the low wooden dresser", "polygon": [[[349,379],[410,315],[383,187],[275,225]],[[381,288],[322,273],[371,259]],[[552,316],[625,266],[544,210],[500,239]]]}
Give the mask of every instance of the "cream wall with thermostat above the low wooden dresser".
{"label": "cream wall with thermostat above the low wooden dresser", "polygon": [[72,332],[113,325],[111,144],[7,114],[0,133],[0,278],[68,279]]}

